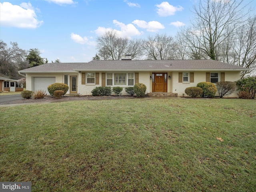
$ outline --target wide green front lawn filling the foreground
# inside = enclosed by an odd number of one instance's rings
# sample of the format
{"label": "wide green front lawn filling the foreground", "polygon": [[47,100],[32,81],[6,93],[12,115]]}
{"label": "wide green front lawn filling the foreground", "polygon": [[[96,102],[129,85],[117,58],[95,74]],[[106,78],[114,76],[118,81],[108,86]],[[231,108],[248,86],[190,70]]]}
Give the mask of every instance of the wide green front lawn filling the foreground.
{"label": "wide green front lawn filling the foreground", "polygon": [[256,100],[85,100],[0,113],[0,181],[31,181],[32,191],[255,191]]}

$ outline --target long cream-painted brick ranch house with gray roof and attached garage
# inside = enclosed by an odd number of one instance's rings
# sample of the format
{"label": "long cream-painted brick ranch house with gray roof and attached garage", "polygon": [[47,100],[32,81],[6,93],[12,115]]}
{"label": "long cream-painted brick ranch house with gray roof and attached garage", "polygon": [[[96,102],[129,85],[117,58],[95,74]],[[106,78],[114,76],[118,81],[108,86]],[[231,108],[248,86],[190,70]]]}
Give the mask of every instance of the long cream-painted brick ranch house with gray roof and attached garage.
{"label": "long cream-painted brick ranch house with gray roof and attached garage", "polygon": [[[98,86],[134,86],[143,83],[151,95],[182,96],[187,87],[199,82],[236,81],[236,65],[215,60],[92,60],[88,63],[48,63],[19,71],[26,74],[27,90],[47,90],[55,83],[68,84],[67,94],[91,95]],[[169,94],[168,94],[169,93]],[[234,92],[230,97],[237,97]],[[125,92],[123,91],[123,94]],[[216,94],[218,96],[218,94]]]}

